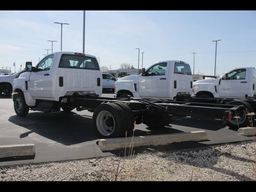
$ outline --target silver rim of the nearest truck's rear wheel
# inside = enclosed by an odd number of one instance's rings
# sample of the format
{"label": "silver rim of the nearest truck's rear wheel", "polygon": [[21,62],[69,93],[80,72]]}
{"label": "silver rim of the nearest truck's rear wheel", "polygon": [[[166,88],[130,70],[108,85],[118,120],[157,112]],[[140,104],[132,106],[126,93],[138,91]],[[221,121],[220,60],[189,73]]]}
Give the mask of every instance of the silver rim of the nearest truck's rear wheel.
{"label": "silver rim of the nearest truck's rear wheel", "polygon": [[[110,126],[110,122],[114,123],[114,126]],[[99,112],[96,118],[96,126],[100,134],[109,136],[114,132],[115,121],[112,114],[108,111]]]}

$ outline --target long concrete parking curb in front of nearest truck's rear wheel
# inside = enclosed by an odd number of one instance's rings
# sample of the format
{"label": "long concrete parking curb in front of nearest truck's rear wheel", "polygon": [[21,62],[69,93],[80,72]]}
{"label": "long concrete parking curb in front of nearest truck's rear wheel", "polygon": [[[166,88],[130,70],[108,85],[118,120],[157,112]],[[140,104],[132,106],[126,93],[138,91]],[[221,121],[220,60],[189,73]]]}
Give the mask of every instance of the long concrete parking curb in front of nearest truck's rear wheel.
{"label": "long concrete parking curb in front of nearest truck's rear wheel", "polygon": [[136,136],[127,138],[109,138],[100,139],[99,148],[102,151],[115,150],[118,148],[129,147],[130,143],[134,143],[134,147],[148,146],[148,145],[166,145],[173,142],[183,141],[200,141],[207,140],[208,136],[205,131],[192,131],[177,134],[161,134],[161,135],[148,135]]}

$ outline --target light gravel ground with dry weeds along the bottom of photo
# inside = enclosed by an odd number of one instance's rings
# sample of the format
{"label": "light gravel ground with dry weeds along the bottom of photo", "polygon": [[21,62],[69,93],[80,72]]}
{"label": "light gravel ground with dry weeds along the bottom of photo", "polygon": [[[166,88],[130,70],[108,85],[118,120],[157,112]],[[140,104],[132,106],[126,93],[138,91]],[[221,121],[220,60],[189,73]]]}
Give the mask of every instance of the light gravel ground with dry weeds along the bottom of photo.
{"label": "light gravel ground with dry weeds along the bottom of photo", "polygon": [[0,181],[108,180],[256,181],[256,142],[0,167]]}

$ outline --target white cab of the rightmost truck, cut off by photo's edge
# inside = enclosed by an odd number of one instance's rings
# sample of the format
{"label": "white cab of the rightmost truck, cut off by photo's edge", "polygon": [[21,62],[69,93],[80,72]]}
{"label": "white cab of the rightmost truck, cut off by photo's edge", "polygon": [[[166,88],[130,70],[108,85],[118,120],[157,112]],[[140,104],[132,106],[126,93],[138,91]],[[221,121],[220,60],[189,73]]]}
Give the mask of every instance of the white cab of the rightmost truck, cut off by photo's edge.
{"label": "white cab of the rightmost truck, cut off by photo's edge", "polygon": [[245,98],[256,96],[256,70],[254,67],[235,68],[218,79],[204,79],[194,82],[196,97]]}

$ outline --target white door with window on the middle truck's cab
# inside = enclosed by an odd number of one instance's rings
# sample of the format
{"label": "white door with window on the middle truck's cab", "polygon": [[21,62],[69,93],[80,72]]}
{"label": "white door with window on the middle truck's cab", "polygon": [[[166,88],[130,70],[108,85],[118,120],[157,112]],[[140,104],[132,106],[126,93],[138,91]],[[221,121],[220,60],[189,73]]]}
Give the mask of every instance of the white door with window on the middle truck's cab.
{"label": "white door with window on the middle truck's cab", "polygon": [[144,76],[140,76],[139,93],[141,97],[167,97],[169,67],[167,62],[154,64],[146,70]]}

